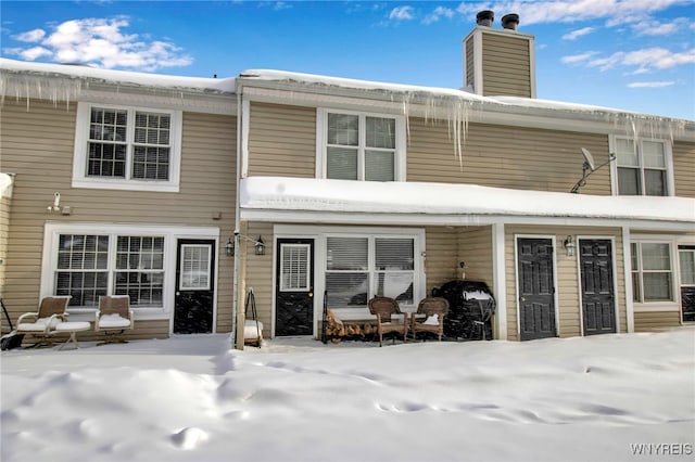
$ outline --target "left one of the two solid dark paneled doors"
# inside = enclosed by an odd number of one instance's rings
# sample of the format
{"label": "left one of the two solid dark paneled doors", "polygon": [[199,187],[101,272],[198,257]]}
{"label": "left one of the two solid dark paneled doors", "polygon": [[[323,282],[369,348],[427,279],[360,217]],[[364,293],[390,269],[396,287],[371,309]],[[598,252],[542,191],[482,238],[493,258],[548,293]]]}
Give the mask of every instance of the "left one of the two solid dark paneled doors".
{"label": "left one of the two solid dark paneled doors", "polygon": [[554,337],[553,241],[518,238],[517,249],[521,339]]}

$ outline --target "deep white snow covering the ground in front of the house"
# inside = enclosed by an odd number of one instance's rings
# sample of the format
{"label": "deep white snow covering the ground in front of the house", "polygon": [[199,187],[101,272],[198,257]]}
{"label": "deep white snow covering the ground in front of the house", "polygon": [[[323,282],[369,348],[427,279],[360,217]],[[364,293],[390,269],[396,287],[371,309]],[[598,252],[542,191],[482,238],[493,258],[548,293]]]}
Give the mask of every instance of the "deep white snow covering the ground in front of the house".
{"label": "deep white snow covering the ground in front of the house", "polygon": [[2,352],[2,461],[694,458],[695,329],[382,348],[288,338],[238,351],[227,335],[80,346]]}

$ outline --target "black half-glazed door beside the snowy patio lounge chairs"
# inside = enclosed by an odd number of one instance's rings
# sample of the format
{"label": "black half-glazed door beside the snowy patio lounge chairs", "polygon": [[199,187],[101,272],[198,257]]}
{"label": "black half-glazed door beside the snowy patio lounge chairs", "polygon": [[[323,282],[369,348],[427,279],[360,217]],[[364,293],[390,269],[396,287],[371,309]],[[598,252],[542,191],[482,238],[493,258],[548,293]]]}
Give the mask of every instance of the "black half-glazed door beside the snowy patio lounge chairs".
{"label": "black half-glazed door beside the snowy patio lounge chairs", "polygon": [[176,261],[174,333],[213,332],[215,241],[179,239]]}

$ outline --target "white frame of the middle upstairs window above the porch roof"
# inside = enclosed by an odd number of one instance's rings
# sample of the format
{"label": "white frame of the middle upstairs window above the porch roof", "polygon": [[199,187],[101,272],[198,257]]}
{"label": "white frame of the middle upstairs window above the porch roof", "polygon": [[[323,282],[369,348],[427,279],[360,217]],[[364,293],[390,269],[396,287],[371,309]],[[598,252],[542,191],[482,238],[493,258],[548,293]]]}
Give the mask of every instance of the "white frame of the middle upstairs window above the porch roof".
{"label": "white frame of the middle upstairs window above the porch roof", "polygon": [[406,130],[405,117],[394,114],[379,114],[370,112],[348,111],[340,108],[318,107],[316,110],[316,178],[327,178],[326,159],[328,142],[328,114],[350,114],[359,117],[359,143],[357,146],[357,180],[364,179],[364,156],[365,156],[365,120],[366,117],[392,118],[395,120],[395,151],[393,159],[393,180],[405,181],[406,166]]}

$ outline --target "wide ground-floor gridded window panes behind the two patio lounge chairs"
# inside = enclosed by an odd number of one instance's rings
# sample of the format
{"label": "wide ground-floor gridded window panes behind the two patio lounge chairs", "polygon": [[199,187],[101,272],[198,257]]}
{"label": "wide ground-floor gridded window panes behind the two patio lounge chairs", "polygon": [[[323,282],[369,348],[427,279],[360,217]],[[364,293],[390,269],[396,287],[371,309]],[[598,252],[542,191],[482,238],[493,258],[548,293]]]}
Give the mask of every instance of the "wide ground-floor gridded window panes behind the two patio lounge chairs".
{"label": "wide ground-floor gridded window panes behind the two patio lounge chairs", "polygon": [[73,307],[96,308],[102,295],[163,306],[163,236],[61,234],[56,262],[54,293],[72,295]]}

